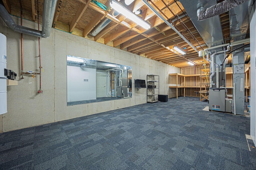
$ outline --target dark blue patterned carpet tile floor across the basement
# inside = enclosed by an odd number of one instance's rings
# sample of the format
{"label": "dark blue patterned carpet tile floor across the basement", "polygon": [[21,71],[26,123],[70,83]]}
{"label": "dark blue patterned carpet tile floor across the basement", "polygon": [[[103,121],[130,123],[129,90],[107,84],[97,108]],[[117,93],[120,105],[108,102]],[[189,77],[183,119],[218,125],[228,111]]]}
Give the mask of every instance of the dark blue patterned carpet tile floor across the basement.
{"label": "dark blue patterned carpet tile floor across the basement", "polygon": [[[255,170],[250,118],[180,97],[0,134],[0,169]],[[72,114],[72,113],[70,113]]]}

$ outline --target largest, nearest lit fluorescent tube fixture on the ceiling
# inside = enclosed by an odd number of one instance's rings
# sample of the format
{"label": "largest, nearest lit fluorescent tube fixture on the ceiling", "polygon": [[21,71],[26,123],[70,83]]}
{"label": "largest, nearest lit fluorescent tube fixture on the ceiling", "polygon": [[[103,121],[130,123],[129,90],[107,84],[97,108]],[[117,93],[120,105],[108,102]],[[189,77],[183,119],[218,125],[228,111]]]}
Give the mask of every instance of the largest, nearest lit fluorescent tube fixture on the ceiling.
{"label": "largest, nearest lit fluorescent tube fixture on the ceiling", "polygon": [[143,28],[150,29],[150,25],[146,21],[140,19],[138,16],[136,16],[135,14],[133,14],[132,12],[130,12],[129,10],[124,8],[124,6],[122,6],[121,4],[116,2],[115,0],[110,1],[110,6],[112,8],[114,8],[114,10],[116,10],[120,14],[126,16],[127,18],[134,21],[135,23],[142,26]]}

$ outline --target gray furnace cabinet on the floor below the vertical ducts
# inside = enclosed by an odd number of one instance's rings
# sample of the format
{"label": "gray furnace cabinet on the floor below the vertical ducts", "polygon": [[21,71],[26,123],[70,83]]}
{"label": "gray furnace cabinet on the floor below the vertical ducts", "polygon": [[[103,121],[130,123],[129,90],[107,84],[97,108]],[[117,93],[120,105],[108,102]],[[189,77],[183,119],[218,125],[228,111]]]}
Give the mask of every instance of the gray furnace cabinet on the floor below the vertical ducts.
{"label": "gray furnace cabinet on the floor below the vertical ducts", "polygon": [[226,89],[210,88],[209,89],[209,110],[225,112]]}

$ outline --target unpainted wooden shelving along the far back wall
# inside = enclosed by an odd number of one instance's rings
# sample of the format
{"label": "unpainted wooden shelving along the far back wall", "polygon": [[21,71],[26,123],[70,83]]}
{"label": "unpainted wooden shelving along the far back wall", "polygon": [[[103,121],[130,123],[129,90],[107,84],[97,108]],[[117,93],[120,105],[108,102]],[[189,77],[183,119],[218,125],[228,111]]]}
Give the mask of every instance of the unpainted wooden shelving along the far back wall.
{"label": "unpainted wooden shelving along the far back wall", "polygon": [[[184,74],[183,74],[184,73]],[[196,73],[196,74],[195,74]],[[200,74],[199,74],[200,73]],[[200,101],[209,100],[209,86],[206,81],[206,75],[208,82],[210,79],[209,66],[202,67],[187,67],[182,68],[181,73],[169,74],[172,80],[175,80],[175,86],[169,86],[169,88],[176,88],[176,98],[178,98],[178,89],[181,89],[182,96],[200,97]],[[172,83],[174,84],[174,83]],[[226,87],[233,87],[233,72],[231,68],[226,68]],[[200,90],[197,90],[200,88]],[[250,64],[245,64],[245,96],[246,102],[248,96],[250,96]],[[228,89],[229,94],[232,94],[232,89]]]}

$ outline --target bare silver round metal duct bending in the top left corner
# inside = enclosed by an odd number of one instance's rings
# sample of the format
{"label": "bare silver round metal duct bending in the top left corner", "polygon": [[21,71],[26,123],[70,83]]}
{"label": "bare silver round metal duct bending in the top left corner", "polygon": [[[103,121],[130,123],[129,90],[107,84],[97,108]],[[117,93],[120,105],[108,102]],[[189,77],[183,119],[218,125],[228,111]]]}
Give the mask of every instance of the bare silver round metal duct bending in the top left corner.
{"label": "bare silver round metal duct bending in the top left corner", "polygon": [[58,0],[44,0],[44,14],[43,14],[43,23],[42,31],[36,29],[24,27],[18,25],[14,22],[10,14],[7,12],[5,7],[0,4],[0,17],[4,20],[7,27],[12,29],[15,32],[23,33],[27,35],[32,35],[36,37],[47,38],[50,37],[50,32],[52,29],[52,22],[54,18],[54,12],[56,9],[56,4]]}

